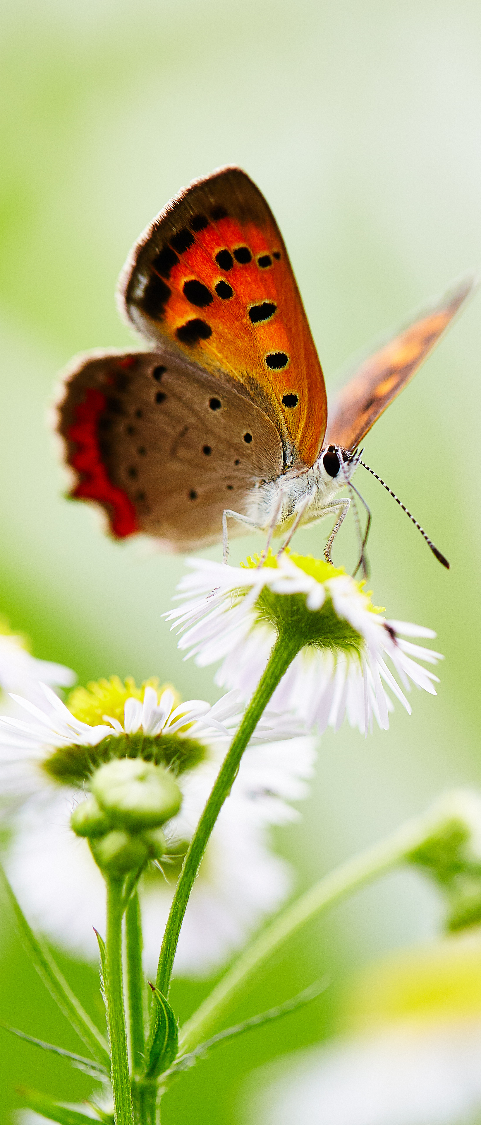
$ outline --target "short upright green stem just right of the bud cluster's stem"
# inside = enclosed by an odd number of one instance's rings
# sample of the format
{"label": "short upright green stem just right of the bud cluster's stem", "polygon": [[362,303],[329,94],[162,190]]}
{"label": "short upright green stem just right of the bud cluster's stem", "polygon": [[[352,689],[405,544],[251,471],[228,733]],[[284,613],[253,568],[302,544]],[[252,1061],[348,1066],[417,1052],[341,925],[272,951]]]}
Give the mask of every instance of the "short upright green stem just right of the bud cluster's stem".
{"label": "short upright green stem just right of the bud cluster's stem", "polygon": [[[133,1074],[140,1074],[145,1064],[144,974],[142,970],[142,919],[137,892],[129,899],[126,910],[127,990],[130,1029],[130,1058]],[[146,1125],[144,1091],[133,1082],[131,1100],[136,1125]]]}

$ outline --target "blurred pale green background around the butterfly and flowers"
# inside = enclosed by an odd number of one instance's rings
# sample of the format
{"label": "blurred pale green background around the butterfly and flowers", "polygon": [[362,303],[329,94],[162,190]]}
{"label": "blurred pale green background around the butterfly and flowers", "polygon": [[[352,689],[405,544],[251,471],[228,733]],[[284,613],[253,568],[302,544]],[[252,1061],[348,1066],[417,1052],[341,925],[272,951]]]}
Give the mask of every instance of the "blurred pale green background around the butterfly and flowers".
{"label": "blurred pale green background around the butterfly and flowers", "polygon": [[[161,620],[182,558],[118,546],[92,511],[63,498],[46,424],[55,374],[76,351],[129,345],[114,289],[131,242],[181,184],[223,163],[244,166],[273,208],[330,385],[351,352],[479,264],[481,9],[17,0],[2,26],[0,609],[35,655],[72,666],[81,682],[158,674],[214,700],[212,670],[182,663]],[[451,573],[380,486],[357,476],[374,515],[374,600],[437,630],[438,698],[415,692],[412,717],[398,708],[389,734],[323,738],[303,821],[278,836],[300,888],[443,789],[480,782],[480,313],[478,297],[365,442]],[[323,533],[299,534],[297,549],[319,555]],[[234,557],[258,546],[240,540]],[[336,561],[353,550],[347,530]],[[329,992],[190,1072],[166,1099],[166,1125],[242,1122],[249,1069],[328,1034],[353,968],[428,940],[438,914],[420,880],[397,875],[311,927],[243,1011],[326,968]],[[93,970],[62,965],[96,1012]],[[0,975],[4,1019],[75,1048],[4,920]],[[182,1015],[206,988],[175,983]],[[90,1089],[2,1033],[2,1120],[22,1081],[67,1100]]]}

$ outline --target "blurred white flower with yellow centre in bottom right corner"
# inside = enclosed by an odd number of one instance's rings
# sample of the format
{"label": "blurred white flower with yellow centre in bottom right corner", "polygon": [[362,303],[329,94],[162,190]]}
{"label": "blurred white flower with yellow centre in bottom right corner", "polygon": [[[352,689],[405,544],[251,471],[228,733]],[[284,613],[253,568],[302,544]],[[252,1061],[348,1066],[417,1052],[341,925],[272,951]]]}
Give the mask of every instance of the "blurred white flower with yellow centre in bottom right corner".
{"label": "blurred white flower with yellow centre in bottom right corner", "polygon": [[[478,830],[477,794],[454,793],[447,801]],[[348,1034],[251,1076],[257,1092],[245,1119],[474,1125],[481,1113],[480,965],[480,930],[472,928],[364,969],[344,998]]]}

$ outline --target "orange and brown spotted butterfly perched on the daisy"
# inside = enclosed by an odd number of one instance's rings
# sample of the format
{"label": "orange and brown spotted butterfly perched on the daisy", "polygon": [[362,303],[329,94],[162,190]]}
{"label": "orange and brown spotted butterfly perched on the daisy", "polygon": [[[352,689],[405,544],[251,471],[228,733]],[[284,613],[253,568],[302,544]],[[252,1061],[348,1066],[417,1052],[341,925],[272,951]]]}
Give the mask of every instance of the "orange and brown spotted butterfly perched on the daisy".
{"label": "orange and brown spotted butterfly perched on the daisy", "polygon": [[266,200],[239,168],[193,180],[120,274],[119,308],[144,350],[91,351],[64,376],[56,426],[71,496],[100,505],[119,539],[144,532],[183,551],[224,538],[225,557],[230,519],[236,534],[291,536],[333,516],[330,561],[360,442],[473,286],[464,278],[367,356],[328,411]]}

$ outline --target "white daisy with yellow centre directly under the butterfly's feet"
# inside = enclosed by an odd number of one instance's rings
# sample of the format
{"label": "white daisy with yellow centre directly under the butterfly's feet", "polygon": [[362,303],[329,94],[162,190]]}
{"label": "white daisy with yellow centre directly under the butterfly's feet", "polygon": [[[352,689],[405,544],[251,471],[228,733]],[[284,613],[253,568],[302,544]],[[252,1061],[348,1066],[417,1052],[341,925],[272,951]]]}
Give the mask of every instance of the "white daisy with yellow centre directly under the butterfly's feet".
{"label": "white daisy with yellow centre directly under the butterfly's feet", "polygon": [[[417,662],[436,664],[439,652],[405,637],[433,638],[430,629],[389,621],[357,583],[311,556],[269,555],[230,567],[190,559],[192,573],[179,585],[182,605],[167,619],[179,647],[199,665],[223,658],[216,682],[252,695],[278,637],[297,655],[272,696],[272,705],[301,718],[320,734],[344,718],[362,734],[373,718],[387,729],[392,700],[410,713],[405,692],[411,681],[435,695],[437,677]],[[414,659],[417,658],[417,659]],[[402,688],[387,664],[390,660]]]}

